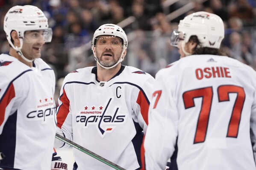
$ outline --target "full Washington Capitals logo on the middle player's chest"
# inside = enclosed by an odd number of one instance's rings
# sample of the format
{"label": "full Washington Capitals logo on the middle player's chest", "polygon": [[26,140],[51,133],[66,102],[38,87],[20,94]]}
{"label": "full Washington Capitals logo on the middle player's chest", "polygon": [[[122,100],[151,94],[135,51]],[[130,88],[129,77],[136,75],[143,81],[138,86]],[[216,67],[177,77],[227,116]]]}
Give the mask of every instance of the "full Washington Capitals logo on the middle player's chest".
{"label": "full Washington Capitals logo on the middle player's chest", "polygon": [[120,112],[121,106],[115,106],[113,110],[110,110],[111,103],[112,98],[109,98],[107,104],[103,107],[98,107],[100,110],[95,110],[96,107],[94,106],[91,107],[91,110],[88,110],[90,107],[84,107],[86,111],[81,111],[79,115],[76,116],[77,123],[84,125],[86,129],[89,125],[95,124],[102,138],[106,133],[112,133],[117,125],[126,122],[127,114]]}

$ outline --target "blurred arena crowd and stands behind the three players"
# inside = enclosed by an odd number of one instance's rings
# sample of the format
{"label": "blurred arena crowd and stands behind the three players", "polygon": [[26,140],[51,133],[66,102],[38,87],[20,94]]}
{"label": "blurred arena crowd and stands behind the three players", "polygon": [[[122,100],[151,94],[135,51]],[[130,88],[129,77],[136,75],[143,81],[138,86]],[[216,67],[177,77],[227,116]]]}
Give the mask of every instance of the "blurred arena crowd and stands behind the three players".
{"label": "blurred arena crowd and stands behind the three players", "polygon": [[[15,5],[38,6],[53,29],[53,40],[44,45],[41,58],[56,73],[56,103],[65,75],[96,65],[91,38],[105,23],[117,24],[127,33],[123,64],[155,76],[159,69],[179,59],[177,49],[170,46],[171,32],[179,20],[198,11],[215,13],[226,27],[224,52],[256,69],[255,0],[0,0],[0,53],[9,51],[3,19]],[[72,170],[72,149],[58,152]]]}

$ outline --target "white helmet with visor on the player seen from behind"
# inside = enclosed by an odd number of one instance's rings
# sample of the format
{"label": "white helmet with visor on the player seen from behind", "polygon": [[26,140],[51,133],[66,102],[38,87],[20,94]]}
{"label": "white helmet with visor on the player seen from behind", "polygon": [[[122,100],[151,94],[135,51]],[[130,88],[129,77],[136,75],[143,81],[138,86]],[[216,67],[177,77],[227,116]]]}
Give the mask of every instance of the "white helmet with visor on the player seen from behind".
{"label": "white helmet with visor on the player seen from behind", "polygon": [[[182,37],[175,37],[182,35]],[[201,47],[219,49],[224,38],[224,23],[216,14],[209,12],[195,12],[179,21],[178,32],[171,37],[171,45],[177,46],[179,39],[188,42],[189,38],[196,35]]]}

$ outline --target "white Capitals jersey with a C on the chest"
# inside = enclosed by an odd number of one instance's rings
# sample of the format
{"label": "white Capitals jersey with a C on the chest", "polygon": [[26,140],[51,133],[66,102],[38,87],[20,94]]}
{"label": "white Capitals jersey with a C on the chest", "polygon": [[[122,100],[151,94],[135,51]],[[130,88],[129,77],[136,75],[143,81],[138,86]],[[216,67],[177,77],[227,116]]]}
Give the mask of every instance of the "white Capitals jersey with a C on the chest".
{"label": "white Capitals jersey with a C on the chest", "polygon": [[[121,66],[107,82],[97,81],[96,75],[97,67],[87,67],[66,76],[58,127],[66,138],[97,155],[126,170],[138,169],[154,78],[131,66]],[[62,146],[63,142],[55,145]],[[77,170],[113,170],[77,149],[74,159]]]}

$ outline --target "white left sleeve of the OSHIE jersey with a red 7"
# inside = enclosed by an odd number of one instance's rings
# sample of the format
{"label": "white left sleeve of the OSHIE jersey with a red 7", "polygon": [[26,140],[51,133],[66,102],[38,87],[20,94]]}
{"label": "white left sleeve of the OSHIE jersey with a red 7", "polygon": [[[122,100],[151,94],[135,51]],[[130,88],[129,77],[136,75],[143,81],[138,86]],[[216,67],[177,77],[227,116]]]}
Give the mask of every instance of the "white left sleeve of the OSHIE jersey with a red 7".
{"label": "white left sleeve of the OSHIE jersey with a red 7", "polygon": [[[162,72],[163,73],[163,72]],[[174,152],[177,139],[178,112],[165,74],[156,75],[149,109],[149,124],[141,148],[143,170],[163,170]]]}

